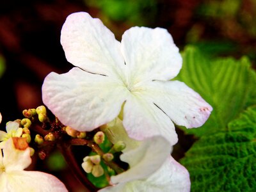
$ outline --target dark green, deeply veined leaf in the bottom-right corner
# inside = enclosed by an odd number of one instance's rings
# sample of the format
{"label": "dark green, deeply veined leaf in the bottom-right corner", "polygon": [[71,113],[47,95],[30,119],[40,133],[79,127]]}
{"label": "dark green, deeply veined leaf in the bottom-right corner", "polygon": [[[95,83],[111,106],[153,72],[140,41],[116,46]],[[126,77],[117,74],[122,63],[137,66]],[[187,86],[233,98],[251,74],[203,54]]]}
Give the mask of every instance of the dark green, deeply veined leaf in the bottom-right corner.
{"label": "dark green, deeply veined leaf in the bottom-right corner", "polygon": [[191,191],[256,191],[256,106],[226,131],[202,136],[181,161]]}

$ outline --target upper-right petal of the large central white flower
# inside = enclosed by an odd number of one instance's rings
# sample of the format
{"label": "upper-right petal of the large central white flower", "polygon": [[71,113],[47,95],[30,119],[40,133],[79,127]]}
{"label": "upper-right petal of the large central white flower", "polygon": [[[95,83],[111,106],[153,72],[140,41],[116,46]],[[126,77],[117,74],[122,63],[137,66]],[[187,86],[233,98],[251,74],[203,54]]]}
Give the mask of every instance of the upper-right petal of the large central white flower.
{"label": "upper-right petal of the large central white flower", "polygon": [[163,28],[131,28],[122,36],[121,47],[132,84],[172,79],[182,66],[179,48]]}

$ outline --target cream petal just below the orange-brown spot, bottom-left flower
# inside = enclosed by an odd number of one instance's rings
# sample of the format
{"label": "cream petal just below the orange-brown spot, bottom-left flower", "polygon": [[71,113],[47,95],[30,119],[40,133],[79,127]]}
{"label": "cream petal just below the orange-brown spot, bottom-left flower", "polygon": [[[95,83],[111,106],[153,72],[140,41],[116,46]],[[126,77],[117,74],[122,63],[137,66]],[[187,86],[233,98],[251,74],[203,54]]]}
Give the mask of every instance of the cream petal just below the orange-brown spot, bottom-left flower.
{"label": "cream petal just below the orange-brown spot, bottom-left flower", "polygon": [[24,170],[29,164],[31,164],[29,147],[18,150],[14,147],[12,138],[8,139],[3,148],[3,165],[6,172]]}

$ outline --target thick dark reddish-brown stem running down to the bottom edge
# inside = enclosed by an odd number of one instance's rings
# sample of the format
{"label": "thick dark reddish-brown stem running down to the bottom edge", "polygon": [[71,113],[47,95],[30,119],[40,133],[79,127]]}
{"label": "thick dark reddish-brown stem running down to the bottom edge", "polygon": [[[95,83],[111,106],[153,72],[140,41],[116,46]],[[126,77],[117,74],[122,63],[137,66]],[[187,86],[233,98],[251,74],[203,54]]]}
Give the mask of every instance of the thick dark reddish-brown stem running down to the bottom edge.
{"label": "thick dark reddish-brown stem running down to the bottom edge", "polygon": [[93,186],[90,180],[87,179],[84,172],[81,170],[81,167],[77,164],[74,154],[72,153],[71,146],[67,143],[60,143],[58,145],[61,153],[63,154],[68,166],[76,176],[76,178],[85,186],[88,191],[98,191],[99,189]]}

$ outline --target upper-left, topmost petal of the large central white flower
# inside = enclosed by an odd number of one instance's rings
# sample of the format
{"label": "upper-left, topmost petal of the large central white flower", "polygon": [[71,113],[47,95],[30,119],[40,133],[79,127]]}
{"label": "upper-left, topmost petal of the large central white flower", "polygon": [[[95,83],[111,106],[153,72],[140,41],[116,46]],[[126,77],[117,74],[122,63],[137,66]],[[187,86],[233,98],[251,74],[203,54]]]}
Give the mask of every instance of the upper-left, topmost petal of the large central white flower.
{"label": "upper-left, topmost petal of the large central white flower", "polygon": [[61,45],[67,60],[88,72],[119,77],[125,67],[120,42],[88,13],[77,12],[67,17],[61,29]]}

